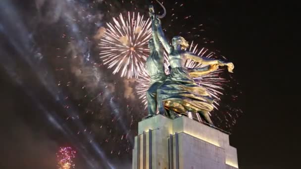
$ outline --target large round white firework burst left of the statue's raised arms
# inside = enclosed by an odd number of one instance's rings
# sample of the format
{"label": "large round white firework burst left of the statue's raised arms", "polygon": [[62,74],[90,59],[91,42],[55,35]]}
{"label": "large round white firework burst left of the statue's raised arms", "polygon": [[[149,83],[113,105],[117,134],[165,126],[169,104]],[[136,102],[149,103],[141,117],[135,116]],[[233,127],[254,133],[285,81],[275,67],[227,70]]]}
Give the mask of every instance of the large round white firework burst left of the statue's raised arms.
{"label": "large round white firework burst left of the statue's raised arms", "polygon": [[151,38],[150,18],[144,20],[144,15],[128,12],[126,19],[120,14],[106,26],[99,43],[103,64],[115,67],[113,74],[121,71],[121,77],[128,79],[144,74],[144,63],[150,52],[147,47]]}

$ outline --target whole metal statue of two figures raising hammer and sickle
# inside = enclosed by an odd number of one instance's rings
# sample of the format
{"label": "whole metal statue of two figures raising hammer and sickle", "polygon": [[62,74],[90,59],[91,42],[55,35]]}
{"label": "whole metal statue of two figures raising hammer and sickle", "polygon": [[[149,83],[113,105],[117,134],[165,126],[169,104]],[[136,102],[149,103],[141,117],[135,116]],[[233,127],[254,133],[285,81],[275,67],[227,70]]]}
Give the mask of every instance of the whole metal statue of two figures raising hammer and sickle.
{"label": "whole metal statue of two figures raising hammer and sickle", "polygon": [[[160,5],[164,8],[162,4]],[[148,117],[155,115],[157,109],[159,114],[170,118],[174,118],[174,113],[182,114],[189,111],[198,113],[207,124],[213,125],[208,113],[213,110],[214,100],[205,88],[194,82],[193,78],[215,71],[219,69],[219,66],[227,66],[228,71],[232,72],[233,63],[209,60],[186,51],[189,42],[181,36],[173,37],[172,44],[170,44],[164,36],[160,21],[166,13],[165,8],[161,16],[154,14],[152,6],[149,9],[152,20],[152,38],[149,42],[151,54],[146,62],[146,69],[151,76],[151,85],[147,91]],[[168,76],[164,73],[163,49],[159,41],[168,53],[170,63]],[[185,67],[188,59],[208,66],[188,69]]]}

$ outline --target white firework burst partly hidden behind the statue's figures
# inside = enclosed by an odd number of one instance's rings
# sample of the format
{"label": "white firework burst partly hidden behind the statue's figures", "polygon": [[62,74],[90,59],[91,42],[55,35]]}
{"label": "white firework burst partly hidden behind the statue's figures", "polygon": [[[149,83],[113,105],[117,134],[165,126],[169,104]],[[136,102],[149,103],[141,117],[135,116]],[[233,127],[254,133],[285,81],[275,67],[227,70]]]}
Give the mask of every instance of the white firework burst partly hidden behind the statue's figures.
{"label": "white firework burst partly hidden behind the statue's figures", "polygon": [[[205,49],[204,47],[198,49],[198,44],[196,44],[193,47],[193,42],[188,49],[188,51],[200,56],[200,57],[206,57],[206,58],[211,58],[214,55],[214,52],[209,52],[208,49]],[[167,59],[167,53],[164,52],[164,66],[165,66],[165,73],[169,74],[168,71],[168,66],[169,62]],[[193,60],[187,60],[186,67],[191,68],[191,69],[196,69],[196,68],[203,68],[208,65],[206,64],[201,64],[198,62],[195,62]],[[207,75],[202,75],[200,77],[194,78],[195,82],[202,87],[204,87],[214,98],[214,104],[213,107],[215,109],[218,109],[219,101],[220,101],[220,95],[223,94],[223,85],[228,82],[225,78],[222,78],[222,69],[218,69],[216,71],[212,71]],[[146,92],[150,87],[150,76],[147,73],[144,73],[137,79],[137,86],[136,86],[136,92],[139,95],[139,99],[141,99],[142,103],[145,105],[145,109],[147,108],[147,97],[146,97]]]}

